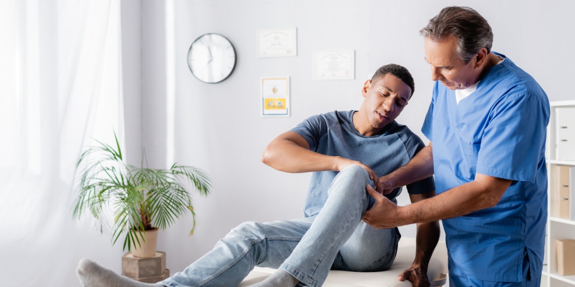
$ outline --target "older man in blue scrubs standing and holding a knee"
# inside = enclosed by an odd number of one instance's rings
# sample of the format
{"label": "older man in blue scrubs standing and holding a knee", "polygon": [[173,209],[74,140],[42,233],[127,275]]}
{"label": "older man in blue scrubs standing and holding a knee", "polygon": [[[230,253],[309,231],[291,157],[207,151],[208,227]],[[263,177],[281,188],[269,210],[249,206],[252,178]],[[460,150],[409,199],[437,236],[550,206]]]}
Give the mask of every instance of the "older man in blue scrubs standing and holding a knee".
{"label": "older man in blue scrubs standing and holding a knee", "polygon": [[[446,7],[420,34],[435,81],[430,144],[379,178],[382,193],[435,173],[438,196],[398,207],[371,187],[377,228],[443,219],[451,286],[539,286],[547,219],[549,100],[469,7]],[[404,280],[405,278],[399,278]]]}

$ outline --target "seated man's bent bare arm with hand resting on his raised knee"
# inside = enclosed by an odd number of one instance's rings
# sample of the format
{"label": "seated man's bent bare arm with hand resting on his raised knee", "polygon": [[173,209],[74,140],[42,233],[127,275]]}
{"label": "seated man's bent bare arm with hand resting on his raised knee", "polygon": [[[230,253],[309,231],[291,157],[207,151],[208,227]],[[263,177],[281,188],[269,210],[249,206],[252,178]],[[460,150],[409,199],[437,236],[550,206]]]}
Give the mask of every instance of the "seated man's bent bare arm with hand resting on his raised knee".
{"label": "seated man's bent bare arm with hand resting on his raised knee", "polygon": [[[367,170],[370,179],[377,179],[377,174],[359,161],[343,157],[325,156],[309,149],[308,141],[301,135],[287,131],[278,135],[263,150],[262,162],[282,172],[321,172],[325,170],[341,171],[350,165],[359,165]],[[379,184],[374,180],[375,185]],[[376,188],[376,190],[379,190]]]}

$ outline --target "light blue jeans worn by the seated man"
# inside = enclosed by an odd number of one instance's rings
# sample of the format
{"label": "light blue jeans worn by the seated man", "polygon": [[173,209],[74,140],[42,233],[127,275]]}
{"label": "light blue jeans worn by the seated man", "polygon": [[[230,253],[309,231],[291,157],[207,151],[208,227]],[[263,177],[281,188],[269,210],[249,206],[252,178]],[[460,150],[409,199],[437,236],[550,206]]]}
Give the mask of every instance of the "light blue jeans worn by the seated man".
{"label": "light blue jeans worn by the seated man", "polygon": [[160,282],[176,286],[236,286],[254,266],[283,268],[308,286],[321,286],[330,269],[387,270],[400,234],[377,230],[361,218],[374,204],[366,170],[342,170],[329,187],[317,216],[275,222],[246,222],[233,228],[212,251],[183,272]]}

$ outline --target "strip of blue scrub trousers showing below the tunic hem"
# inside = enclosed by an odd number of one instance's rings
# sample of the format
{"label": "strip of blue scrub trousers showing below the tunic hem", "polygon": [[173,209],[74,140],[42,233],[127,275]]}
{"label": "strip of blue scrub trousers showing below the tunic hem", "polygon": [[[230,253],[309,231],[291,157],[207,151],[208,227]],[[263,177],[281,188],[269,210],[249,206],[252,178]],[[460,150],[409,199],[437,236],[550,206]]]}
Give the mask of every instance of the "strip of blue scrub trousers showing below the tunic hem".
{"label": "strip of blue scrub trousers showing below the tunic hem", "polygon": [[[522,282],[496,282],[478,280],[465,275],[465,271],[449,260],[449,286],[455,287],[535,287],[541,285],[540,274],[530,274],[529,258],[523,258]],[[528,278],[529,277],[529,278]]]}

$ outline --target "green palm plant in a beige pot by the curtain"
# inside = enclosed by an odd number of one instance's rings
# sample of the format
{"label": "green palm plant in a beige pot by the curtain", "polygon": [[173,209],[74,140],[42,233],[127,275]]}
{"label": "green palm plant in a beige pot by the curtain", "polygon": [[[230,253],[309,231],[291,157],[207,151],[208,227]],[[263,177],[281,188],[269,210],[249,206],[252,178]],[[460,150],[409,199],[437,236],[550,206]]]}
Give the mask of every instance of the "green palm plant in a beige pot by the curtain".
{"label": "green palm plant in a beige pot by the curtain", "polygon": [[[165,230],[179,216],[190,212],[196,228],[196,214],[191,204],[191,193],[186,181],[200,195],[210,193],[210,179],[202,170],[193,166],[172,165],[169,169],[126,164],[120,143],[116,148],[98,142],[83,152],[76,164],[78,174],[77,196],[72,217],[79,219],[89,212],[101,232],[108,230],[112,221],[112,245],[124,235],[123,250],[132,251],[136,257],[155,255],[158,229]],[[113,212],[113,219],[106,212]],[[156,239],[154,239],[156,238]],[[152,243],[153,246],[145,246]]]}

